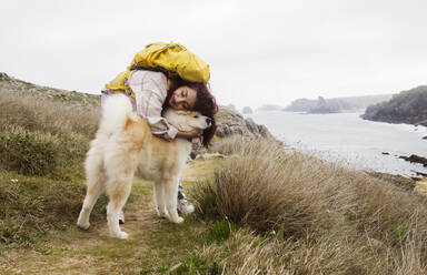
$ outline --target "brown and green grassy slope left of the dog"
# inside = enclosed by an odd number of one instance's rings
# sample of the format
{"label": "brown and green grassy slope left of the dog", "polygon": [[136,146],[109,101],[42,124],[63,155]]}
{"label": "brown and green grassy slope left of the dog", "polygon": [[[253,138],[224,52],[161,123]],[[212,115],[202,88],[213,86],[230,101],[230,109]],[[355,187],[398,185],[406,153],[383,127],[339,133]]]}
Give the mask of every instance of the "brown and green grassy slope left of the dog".
{"label": "brown and green grassy slope left of the dog", "polygon": [[0,92],[0,251],[38,247],[50,230],[75,224],[98,118],[98,109]]}

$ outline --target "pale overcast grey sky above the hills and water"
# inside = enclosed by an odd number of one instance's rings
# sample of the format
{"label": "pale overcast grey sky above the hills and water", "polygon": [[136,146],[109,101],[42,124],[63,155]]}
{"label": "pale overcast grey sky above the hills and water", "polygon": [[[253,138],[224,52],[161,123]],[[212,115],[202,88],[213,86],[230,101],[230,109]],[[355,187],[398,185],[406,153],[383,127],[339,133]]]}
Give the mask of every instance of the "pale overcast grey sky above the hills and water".
{"label": "pale overcast grey sky above the hills and water", "polygon": [[0,71],[99,93],[156,41],[210,64],[220,104],[397,93],[427,84],[425,0],[2,1]]}

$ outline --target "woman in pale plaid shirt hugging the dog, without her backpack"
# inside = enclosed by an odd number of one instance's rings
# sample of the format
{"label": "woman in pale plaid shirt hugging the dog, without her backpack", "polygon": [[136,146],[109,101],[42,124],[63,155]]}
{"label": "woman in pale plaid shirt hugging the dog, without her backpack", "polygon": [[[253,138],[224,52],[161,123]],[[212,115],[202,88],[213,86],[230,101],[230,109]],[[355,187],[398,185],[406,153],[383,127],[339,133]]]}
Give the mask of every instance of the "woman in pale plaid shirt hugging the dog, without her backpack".
{"label": "woman in pale plaid shirt hugging the dog, without her backpack", "polygon": [[[215,98],[203,83],[188,82],[180,78],[171,79],[168,88],[168,78],[163,72],[150,70],[133,70],[129,74],[127,85],[135,93],[126,91],[132,102],[133,110],[145,119],[151,128],[151,133],[171,141],[176,138],[199,138],[203,146],[208,146],[216,132],[215,113],[218,111]],[[101,102],[113,93],[111,90],[102,91]],[[198,111],[212,120],[212,126],[205,131],[193,130],[190,132],[178,131],[161,116],[168,108],[176,110]],[[178,186],[178,212],[188,214],[195,211],[183,194],[181,181]],[[122,220],[122,218],[121,218]]]}

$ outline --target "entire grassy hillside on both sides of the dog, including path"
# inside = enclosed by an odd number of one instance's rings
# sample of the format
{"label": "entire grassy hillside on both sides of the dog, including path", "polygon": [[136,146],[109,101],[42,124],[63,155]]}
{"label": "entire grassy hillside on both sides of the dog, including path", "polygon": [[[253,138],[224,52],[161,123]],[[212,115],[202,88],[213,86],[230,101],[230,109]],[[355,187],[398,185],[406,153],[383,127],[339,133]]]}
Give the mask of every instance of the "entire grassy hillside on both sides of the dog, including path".
{"label": "entire grassy hillside on both sides of the dog, including path", "polygon": [[80,231],[99,103],[23,86],[17,96],[6,81],[0,274],[427,274],[423,197],[262,139],[217,139],[210,151],[228,157],[187,165],[197,211],[183,224],[158,218],[152,183],[136,180],[122,225],[130,240],[108,237],[106,197]]}

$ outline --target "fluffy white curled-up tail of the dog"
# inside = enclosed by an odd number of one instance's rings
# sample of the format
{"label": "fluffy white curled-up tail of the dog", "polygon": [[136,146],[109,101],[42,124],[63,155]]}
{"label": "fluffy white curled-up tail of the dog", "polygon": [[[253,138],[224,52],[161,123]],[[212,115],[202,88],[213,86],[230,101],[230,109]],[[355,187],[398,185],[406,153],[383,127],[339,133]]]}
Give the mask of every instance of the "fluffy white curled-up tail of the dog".
{"label": "fluffy white curled-up tail of the dog", "polygon": [[128,119],[135,119],[132,103],[125,94],[109,95],[102,104],[100,129],[105,133],[115,133],[123,129]]}

